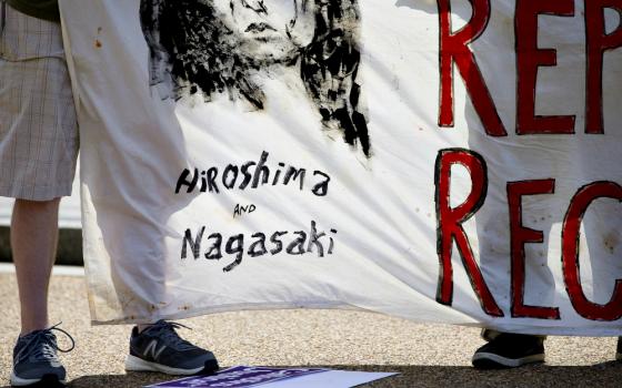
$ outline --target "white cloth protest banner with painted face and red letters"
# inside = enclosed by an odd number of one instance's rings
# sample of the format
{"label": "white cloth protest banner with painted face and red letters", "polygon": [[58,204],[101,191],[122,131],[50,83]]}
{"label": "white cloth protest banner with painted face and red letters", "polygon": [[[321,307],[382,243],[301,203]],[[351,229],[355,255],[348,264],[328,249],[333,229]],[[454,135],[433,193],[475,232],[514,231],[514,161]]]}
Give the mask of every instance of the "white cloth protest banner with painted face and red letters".
{"label": "white cloth protest banner with painted face and red letters", "polygon": [[93,321],[620,335],[621,2],[61,0]]}

